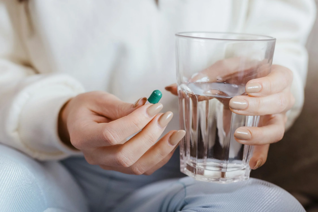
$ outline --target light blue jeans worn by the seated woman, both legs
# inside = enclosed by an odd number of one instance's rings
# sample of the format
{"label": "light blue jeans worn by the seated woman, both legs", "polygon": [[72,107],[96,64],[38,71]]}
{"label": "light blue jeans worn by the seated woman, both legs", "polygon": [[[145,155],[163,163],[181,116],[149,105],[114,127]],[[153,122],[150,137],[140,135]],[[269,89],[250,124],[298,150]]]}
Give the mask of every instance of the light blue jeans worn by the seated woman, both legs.
{"label": "light blue jeans worn by the seated woman, both legs", "polygon": [[1,212],[304,212],[287,191],[250,179],[217,184],[184,177],[179,156],[150,176],[105,171],[84,158],[38,162],[0,145]]}

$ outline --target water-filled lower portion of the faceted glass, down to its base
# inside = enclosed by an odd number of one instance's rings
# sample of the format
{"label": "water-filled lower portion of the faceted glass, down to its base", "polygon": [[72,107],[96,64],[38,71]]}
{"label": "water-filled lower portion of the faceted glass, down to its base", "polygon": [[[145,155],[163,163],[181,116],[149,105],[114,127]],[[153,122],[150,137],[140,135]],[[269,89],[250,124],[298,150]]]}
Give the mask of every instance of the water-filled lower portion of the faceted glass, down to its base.
{"label": "water-filled lower portion of the faceted glass, down to its base", "polygon": [[178,86],[181,171],[197,180],[232,182],[247,179],[252,148],[234,139],[238,127],[257,126],[257,116],[232,113],[230,100],[246,95],[244,85],[223,82]]}

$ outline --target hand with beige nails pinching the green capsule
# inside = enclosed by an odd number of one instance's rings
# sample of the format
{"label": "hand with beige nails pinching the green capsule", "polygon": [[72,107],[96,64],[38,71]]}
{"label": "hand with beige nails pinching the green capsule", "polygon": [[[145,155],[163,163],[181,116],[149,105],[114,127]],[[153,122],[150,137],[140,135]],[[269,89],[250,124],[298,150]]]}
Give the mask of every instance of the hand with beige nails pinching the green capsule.
{"label": "hand with beige nails pinching the green capsule", "polygon": [[156,142],[173,113],[159,113],[162,104],[144,105],[146,101],[144,97],[129,104],[107,92],[79,94],[60,111],[59,136],[81,150],[90,164],[126,174],[152,174],[169,161],[185,131],[172,130]]}

